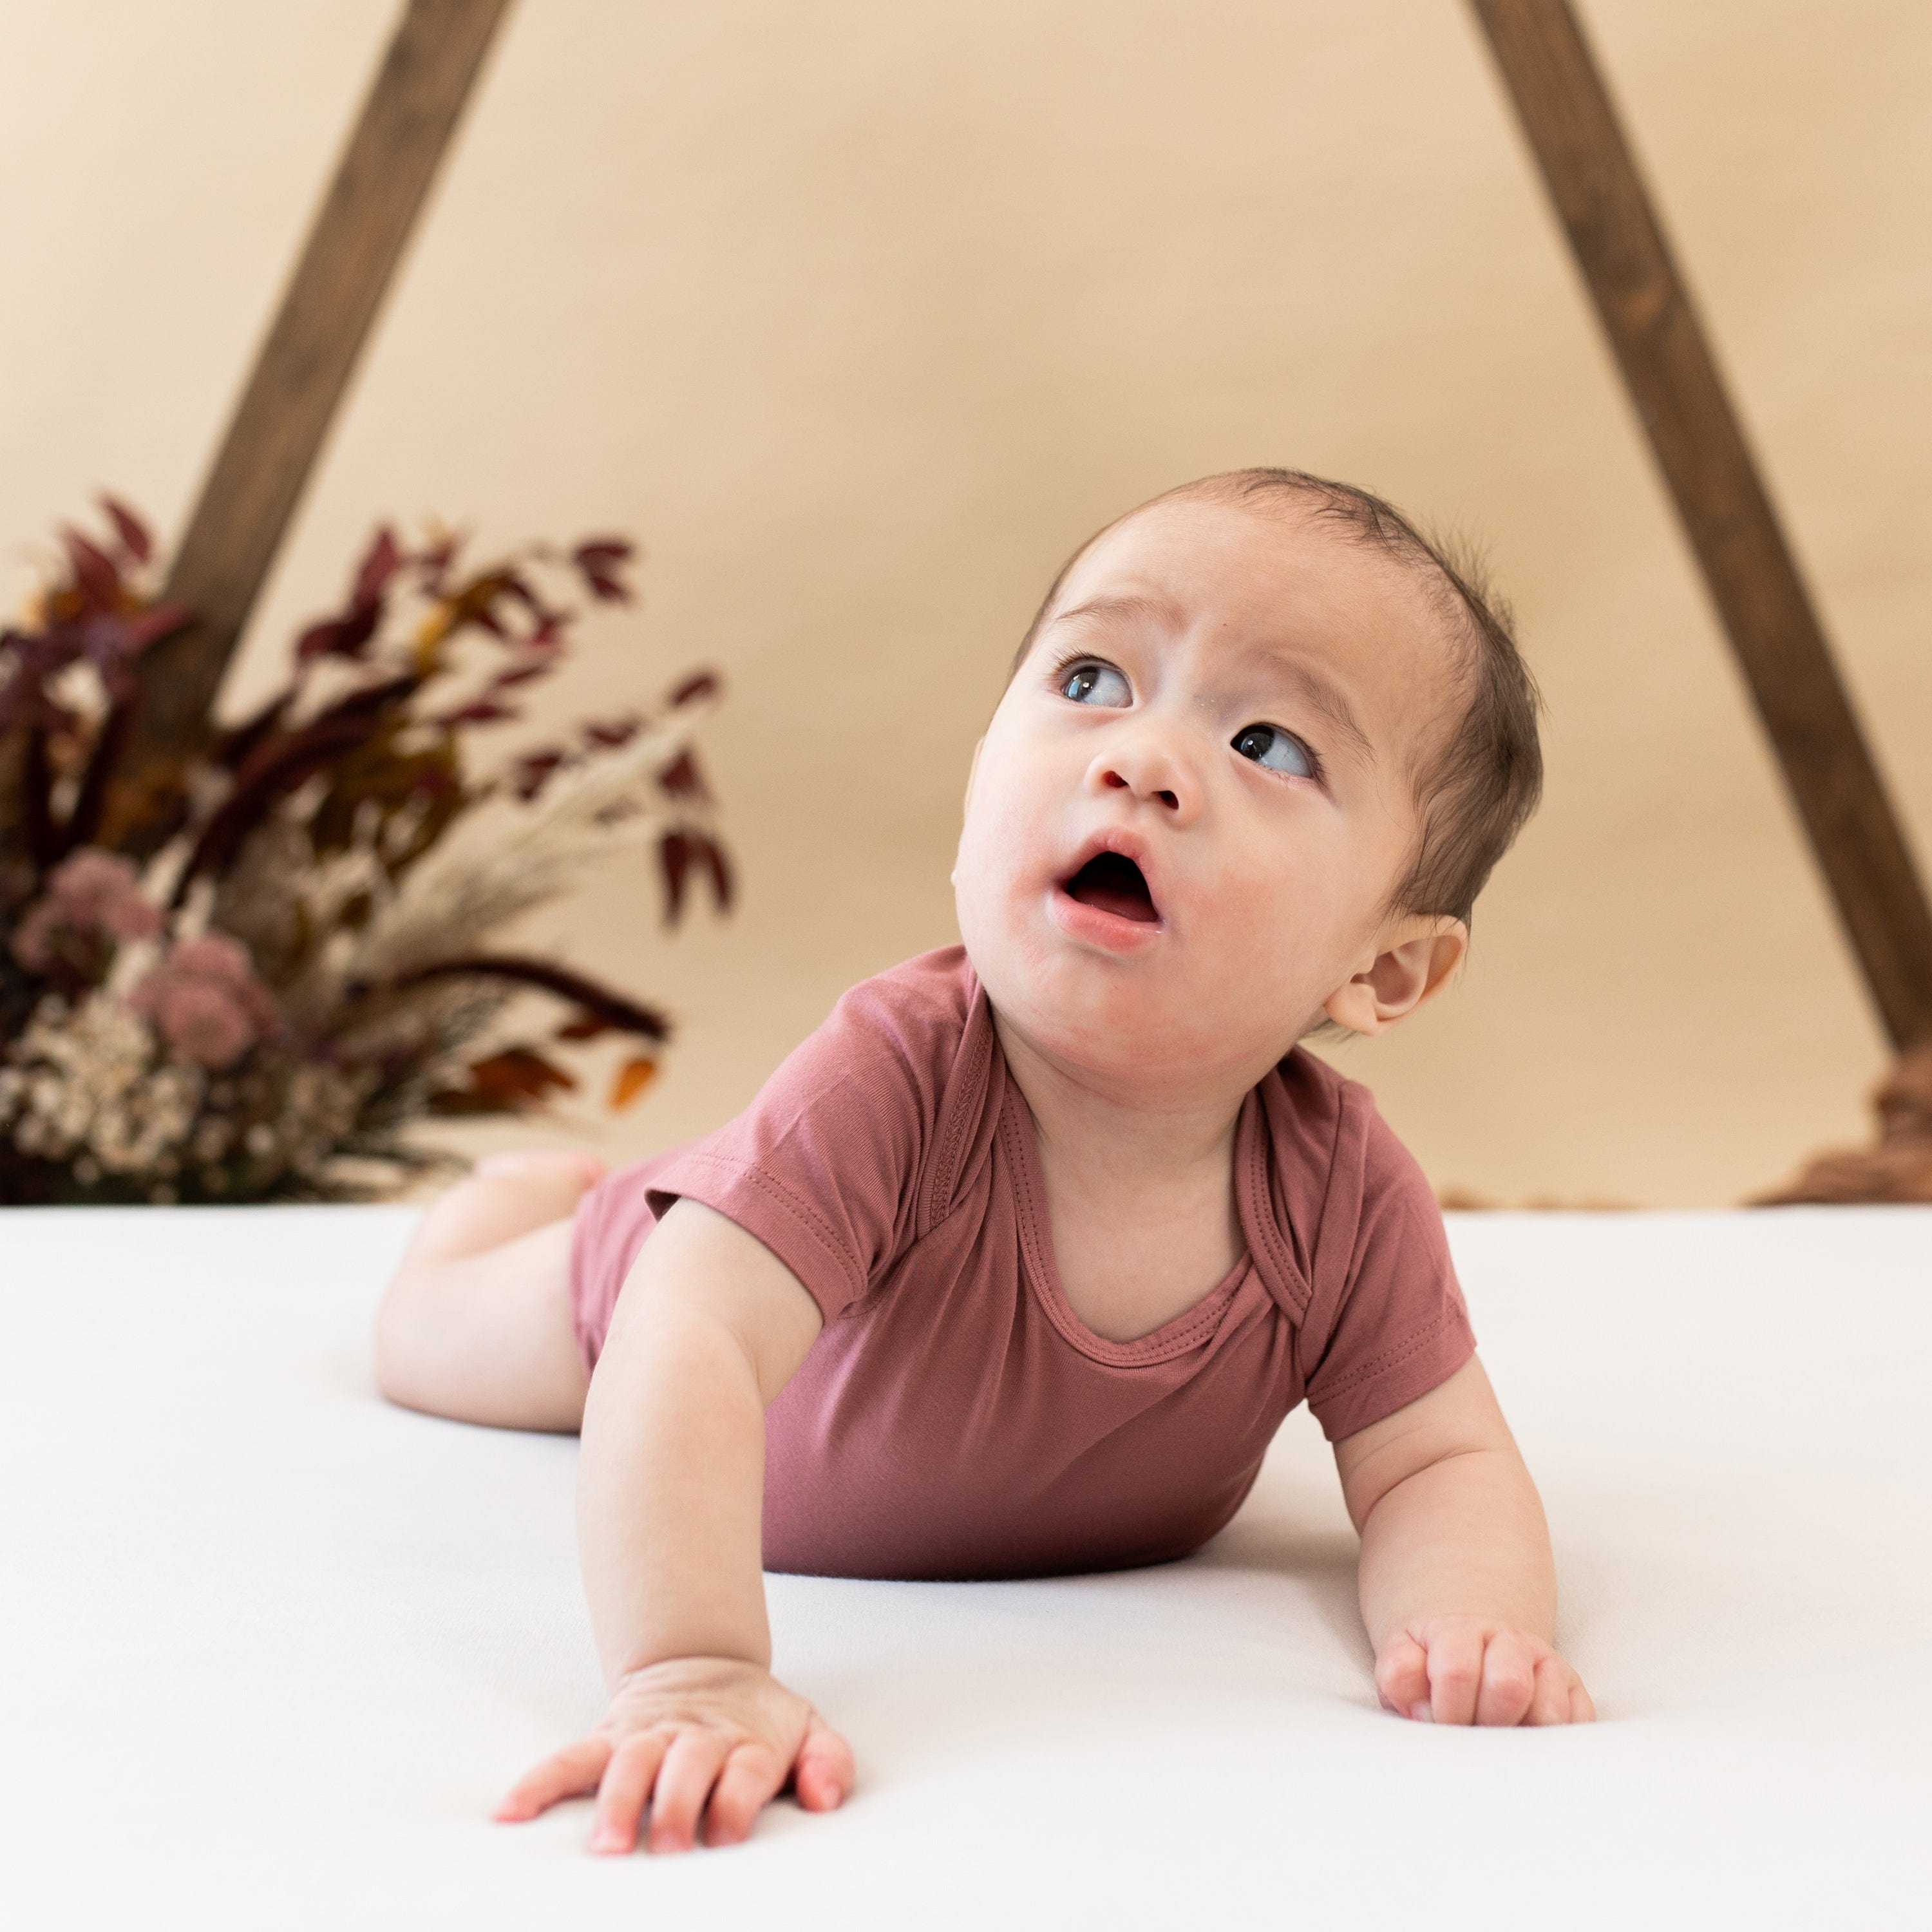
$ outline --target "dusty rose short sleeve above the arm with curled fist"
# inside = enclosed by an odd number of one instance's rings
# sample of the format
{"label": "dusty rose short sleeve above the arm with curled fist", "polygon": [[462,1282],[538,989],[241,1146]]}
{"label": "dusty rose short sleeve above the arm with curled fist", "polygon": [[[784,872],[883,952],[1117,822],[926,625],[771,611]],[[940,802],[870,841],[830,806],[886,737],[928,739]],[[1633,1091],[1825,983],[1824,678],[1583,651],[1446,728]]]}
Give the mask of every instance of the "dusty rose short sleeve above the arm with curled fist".
{"label": "dusty rose short sleeve above the arm with curled fist", "polygon": [[1331,1175],[1329,1190],[1358,1186],[1360,1209],[1341,1306],[1308,1370],[1308,1408],[1329,1441],[1428,1395],[1476,1350],[1428,1177],[1366,1092],[1354,1092],[1366,1113],[1360,1165]]}

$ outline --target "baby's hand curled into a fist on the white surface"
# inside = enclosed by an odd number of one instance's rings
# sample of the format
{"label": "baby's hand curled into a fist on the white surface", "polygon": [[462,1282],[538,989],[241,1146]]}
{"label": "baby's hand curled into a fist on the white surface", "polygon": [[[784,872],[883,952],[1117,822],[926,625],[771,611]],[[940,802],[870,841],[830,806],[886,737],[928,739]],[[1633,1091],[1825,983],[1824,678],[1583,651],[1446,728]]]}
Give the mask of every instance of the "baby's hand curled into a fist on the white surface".
{"label": "baby's hand curled into a fist on the white surface", "polygon": [[1590,1723],[1582,1679],[1540,1638],[1493,1617],[1424,1617],[1376,1658],[1383,1710],[1424,1723]]}

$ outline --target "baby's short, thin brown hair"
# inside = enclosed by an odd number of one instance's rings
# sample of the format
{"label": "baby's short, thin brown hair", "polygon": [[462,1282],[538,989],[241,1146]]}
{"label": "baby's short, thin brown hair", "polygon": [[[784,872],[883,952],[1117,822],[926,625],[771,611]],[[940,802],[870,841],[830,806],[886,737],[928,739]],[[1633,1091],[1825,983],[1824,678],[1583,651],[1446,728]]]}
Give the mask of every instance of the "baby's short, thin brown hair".
{"label": "baby's short, thin brown hair", "polygon": [[[1399,912],[1445,914],[1466,923],[1476,895],[1522,831],[1544,788],[1536,680],[1517,649],[1509,605],[1490,583],[1482,562],[1466,545],[1426,537],[1381,497],[1304,469],[1229,469],[1163,491],[1140,510],[1177,497],[1310,512],[1410,570],[1441,611],[1459,645],[1453,688],[1466,701],[1455,730],[1410,773],[1422,838],[1389,904]],[[1097,529],[1061,564],[1026,628],[1012,670],[1026,663],[1068,572],[1122,522],[1126,518],[1115,518]]]}

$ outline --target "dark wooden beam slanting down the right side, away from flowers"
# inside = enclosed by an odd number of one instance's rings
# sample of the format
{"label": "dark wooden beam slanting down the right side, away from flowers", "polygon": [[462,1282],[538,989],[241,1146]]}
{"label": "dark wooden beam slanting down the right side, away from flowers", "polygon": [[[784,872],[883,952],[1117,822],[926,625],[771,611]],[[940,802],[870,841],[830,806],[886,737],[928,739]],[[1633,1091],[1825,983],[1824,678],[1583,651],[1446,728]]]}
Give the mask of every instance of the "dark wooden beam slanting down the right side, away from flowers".
{"label": "dark wooden beam slanting down the right side, away from flowers", "polygon": [[1569,0],[1470,0],[1893,1045],[1932,1039],[1932,910]]}

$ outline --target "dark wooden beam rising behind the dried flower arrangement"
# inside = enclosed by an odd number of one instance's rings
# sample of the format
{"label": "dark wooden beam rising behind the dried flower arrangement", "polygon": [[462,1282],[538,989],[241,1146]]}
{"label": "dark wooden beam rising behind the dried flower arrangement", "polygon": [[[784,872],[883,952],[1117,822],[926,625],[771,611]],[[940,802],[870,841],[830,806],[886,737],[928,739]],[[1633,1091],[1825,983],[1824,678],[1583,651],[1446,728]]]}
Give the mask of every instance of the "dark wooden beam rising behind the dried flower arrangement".
{"label": "dark wooden beam rising behind the dried flower arrangement", "polygon": [[207,742],[222,672],[508,4],[408,0],[174,553],[164,595],[201,616],[153,651],[129,781]]}

